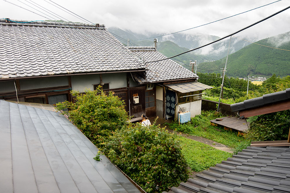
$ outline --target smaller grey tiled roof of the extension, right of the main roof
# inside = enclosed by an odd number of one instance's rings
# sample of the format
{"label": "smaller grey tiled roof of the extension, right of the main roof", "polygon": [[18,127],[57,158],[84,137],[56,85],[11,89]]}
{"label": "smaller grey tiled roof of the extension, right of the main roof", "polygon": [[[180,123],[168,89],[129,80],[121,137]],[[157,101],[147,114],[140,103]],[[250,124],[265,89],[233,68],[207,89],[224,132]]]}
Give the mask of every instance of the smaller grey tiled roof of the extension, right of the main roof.
{"label": "smaller grey tiled roof of the extension, right of the main roof", "polygon": [[[162,53],[155,50],[154,47],[129,47],[141,60],[150,62],[167,58]],[[146,64],[146,82],[156,82],[175,79],[188,79],[198,77],[195,73],[182,67],[173,60],[163,60]]]}

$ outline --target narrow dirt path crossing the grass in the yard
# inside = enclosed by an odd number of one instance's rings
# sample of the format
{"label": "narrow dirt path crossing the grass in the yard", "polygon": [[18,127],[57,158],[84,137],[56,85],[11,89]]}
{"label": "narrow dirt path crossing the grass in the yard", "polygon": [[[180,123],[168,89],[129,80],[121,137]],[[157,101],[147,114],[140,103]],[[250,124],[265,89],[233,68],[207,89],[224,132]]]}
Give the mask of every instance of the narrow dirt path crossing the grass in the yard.
{"label": "narrow dirt path crossing the grass in the yard", "polygon": [[[166,130],[169,131],[170,133],[177,133],[176,131],[173,131],[172,129],[169,129],[166,126],[163,126],[163,125],[161,125],[161,126],[163,128],[166,128]],[[220,150],[225,151],[225,152],[233,153],[233,151],[226,145],[217,143],[215,141],[212,141],[212,140],[209,140],[209,139],[206,139],[206,138],[197,137],[197,136],[189,135],[189,134],[186,134],[186,133],[180,133],[180,132],[178,132],[178,133],[181,134],[185,138],[188,138],[188,139],[191,139],[191,140],[194,140],[194,141],[198,141],[198,142],[210,145],[211,147],[214,147],[215,149],[220,149]]]}

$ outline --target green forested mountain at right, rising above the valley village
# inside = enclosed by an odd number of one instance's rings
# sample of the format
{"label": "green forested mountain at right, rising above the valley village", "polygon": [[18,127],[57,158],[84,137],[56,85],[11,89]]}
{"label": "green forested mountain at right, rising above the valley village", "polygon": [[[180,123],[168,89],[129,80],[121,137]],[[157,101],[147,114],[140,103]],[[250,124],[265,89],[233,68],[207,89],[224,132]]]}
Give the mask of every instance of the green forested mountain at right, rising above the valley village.
{"label": "green forested mountain at right, rising above the valley village", "polygon": [[[255,43],[229,55],[227,62],[228,76],[290,75],[290,32],[262,39]],[[279,48],[280,50],[265,46]],[[225,61],[226,57],[213,62],[201,63],[198,67],[201,68],[201,72],[218,72],[220,68],[225,66]]]}

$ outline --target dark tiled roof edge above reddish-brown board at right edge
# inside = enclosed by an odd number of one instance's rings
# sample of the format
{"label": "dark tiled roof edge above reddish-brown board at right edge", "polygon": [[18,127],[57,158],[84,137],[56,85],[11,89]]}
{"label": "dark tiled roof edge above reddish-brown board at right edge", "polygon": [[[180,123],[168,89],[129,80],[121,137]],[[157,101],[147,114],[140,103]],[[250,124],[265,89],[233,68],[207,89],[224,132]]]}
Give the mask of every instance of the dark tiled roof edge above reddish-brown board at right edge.
{"label": "dark tiled roof edge above reddish-brown board at right edge", "polygon": [[244,102],[238,102],[238,103],[232,104],[231,109],[232,109],[232,112],[241,111],[244,109],[250,109],[253,107],[259,107],[259,106],[267,105],[273,102],[289,100],[289,99],[290,99],[290,88],[287,88],[285,91],[270,93],[270,94],[263,95],[261,97],[244,100]]}

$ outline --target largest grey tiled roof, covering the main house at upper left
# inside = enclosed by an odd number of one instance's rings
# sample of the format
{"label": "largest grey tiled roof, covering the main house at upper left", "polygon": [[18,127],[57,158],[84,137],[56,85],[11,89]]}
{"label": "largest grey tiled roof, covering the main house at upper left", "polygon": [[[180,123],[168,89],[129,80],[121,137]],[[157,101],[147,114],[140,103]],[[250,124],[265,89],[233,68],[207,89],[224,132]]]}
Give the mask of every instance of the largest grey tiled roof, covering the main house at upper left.
{"label": "largest grey tiled roof, covering the main house at upper left", "polygon": [[0,19],[1,79],[144,68],[103,25]]}

